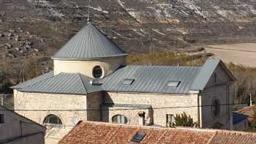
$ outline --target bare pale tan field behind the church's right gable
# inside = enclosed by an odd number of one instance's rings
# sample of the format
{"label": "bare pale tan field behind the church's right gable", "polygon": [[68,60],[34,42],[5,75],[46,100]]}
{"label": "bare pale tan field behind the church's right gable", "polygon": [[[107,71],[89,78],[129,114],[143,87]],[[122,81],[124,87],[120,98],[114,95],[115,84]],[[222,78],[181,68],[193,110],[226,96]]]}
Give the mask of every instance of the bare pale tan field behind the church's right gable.
{"label": "bare pale tan field behind the church's right gable", "polygon": [[256,43],[208,45],[206,51],[214,53],[214,58],[221,58],[227,63],[233,62],[247,67],[256,67]]}

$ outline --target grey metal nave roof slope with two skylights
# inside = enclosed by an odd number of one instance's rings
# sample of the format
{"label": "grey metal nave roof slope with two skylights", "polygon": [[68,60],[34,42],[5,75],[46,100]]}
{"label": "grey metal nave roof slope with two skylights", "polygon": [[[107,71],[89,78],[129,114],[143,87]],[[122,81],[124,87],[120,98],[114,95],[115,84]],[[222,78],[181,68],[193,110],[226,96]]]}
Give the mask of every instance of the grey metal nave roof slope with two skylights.
{"label": "grey metal nave roof slope with two skylights", "polygon": [[[123,91],[158,94],[187,94],[200,72],[200,67],[127,66],[100,80],[105,91]],[[123,80],[134,79],[131,85]],[[169,87],[170,81],[181,81],[178,87]]]}

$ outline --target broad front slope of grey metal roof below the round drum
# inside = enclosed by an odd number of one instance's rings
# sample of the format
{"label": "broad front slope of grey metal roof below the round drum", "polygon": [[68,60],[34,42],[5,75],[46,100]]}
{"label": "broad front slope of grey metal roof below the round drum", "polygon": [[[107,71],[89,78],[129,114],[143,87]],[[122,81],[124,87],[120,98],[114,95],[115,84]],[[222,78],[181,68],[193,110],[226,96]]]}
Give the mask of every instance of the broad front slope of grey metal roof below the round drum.
{"label": "broad front slope of grey metal roof below the round drum", "polygon": [[90,86],[91,78],[78,73],[60,73],[39,83],[23,87],[19,91],[50,94],[90,94],[100,91],[99,86]]}

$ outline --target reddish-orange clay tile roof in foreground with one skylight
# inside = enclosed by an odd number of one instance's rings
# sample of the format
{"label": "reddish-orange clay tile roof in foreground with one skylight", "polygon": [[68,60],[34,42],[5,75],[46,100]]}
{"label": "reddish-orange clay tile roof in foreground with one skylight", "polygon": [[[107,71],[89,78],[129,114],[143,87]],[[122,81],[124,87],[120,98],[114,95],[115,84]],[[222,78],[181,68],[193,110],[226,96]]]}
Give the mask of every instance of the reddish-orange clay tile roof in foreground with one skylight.
{"label": "reddish-orange clay tile roof in foreground with one skylight", "polygon": [[146,132],[140,143],[256,143],[256,134],[217,129],[157,128],[82,121],[59,144],[134,143],[136,132]]}

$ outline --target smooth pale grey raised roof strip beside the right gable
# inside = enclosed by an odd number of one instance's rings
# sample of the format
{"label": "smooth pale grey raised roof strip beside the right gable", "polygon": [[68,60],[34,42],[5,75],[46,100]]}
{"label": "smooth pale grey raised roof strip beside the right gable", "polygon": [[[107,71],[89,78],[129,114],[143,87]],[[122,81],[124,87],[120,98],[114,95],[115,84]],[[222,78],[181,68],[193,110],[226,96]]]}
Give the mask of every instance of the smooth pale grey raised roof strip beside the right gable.
{"label": "smooth pale grey raised roof strip beside the right gable", "polygon": [[206,63],[203,64],[202,69],[195,78],[194,83],[192,83],[190,89],[202,91],[206,87],[208,80],[210,80],[211,75],[213,75],[214,70],[217,68],[219,62],[219,59],[208,59]]}

